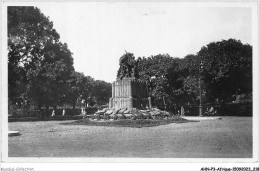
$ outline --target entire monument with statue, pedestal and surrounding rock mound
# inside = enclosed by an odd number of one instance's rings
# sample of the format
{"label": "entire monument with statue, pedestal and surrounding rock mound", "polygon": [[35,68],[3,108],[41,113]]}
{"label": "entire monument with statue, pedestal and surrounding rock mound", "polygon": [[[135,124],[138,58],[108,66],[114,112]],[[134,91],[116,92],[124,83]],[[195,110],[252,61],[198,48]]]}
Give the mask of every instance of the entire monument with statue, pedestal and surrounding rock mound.
{"label": "entire monument with statue, pedestal and surrounding rock mound", "polygon": [[139,79],[138,60],[132,53],[126,52],[119,59],[117,79],[112,83],[112,97],[109,107],[98,110],[94,115],[85,115],[95,120],[100,119],[156,119],[167,118],[168,112],[152,108],[146,83]]}

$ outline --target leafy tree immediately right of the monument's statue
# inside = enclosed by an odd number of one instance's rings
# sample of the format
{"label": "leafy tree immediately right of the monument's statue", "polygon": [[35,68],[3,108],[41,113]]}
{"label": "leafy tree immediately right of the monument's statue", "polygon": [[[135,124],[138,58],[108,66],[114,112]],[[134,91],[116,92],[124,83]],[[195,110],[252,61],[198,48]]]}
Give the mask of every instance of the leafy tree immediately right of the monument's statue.
{"label": "leafy tree immediately right of the monument's statue", "polygon": [[176,96],[182,94],[181,72],[179,59],[168,54],[139,58],[140,79],[148,86],[153,104],[162,109],[173,108],[180,101]]}

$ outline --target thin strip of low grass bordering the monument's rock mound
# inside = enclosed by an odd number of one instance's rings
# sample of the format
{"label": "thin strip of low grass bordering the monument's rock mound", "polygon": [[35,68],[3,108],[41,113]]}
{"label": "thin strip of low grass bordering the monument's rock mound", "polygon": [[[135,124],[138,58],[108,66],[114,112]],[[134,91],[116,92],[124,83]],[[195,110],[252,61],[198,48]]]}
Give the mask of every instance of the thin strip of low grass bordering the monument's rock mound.
{"label": "thin strip of low grass bordering the monument's rock mound", "polygon": [[166,125],[171,123],[187,123],[191,122],[187,119],[180,117],[173,117],[169,119],[121,119],[114,121],[92,121],[89,119],[80,119],[73,122],[62,123],[62,125],[86,125],[86,126],[108,126],[108,127],[132,127],[132,128],[142,128],[142,127],[153,127],[159,125]]}

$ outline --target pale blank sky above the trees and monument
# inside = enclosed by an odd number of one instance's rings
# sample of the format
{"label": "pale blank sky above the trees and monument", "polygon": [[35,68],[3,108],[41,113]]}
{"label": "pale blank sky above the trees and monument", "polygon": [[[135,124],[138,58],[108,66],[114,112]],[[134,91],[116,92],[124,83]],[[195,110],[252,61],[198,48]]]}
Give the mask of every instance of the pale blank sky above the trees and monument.
{"label": "pale blank sky above the trees and monument", "polygon": [[37,7],[68,44],[75,70],[107,82],[116,80],[125,51],[136,58],[183,58],[210,42],[234,38],[252,44],[252,11],[247,7],[174,2],[62,2]]}

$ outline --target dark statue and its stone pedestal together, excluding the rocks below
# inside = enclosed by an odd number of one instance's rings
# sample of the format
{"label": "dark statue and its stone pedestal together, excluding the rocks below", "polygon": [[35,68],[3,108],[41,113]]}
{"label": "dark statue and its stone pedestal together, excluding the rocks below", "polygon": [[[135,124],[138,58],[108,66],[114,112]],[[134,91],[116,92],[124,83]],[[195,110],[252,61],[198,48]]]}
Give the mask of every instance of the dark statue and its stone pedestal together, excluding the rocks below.
{"label": "dark statue and its stone pedestal together, excluding the rocks below", "polygon": [[119,64],[117,80],[112,83],[112,97],[109,100],[109,108],[151,108],[146,83],[137,78],[138,61],[135,61],[133,54],[126,52],[120,58]]}

